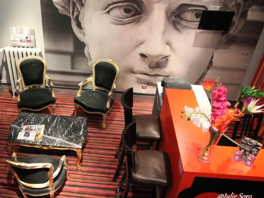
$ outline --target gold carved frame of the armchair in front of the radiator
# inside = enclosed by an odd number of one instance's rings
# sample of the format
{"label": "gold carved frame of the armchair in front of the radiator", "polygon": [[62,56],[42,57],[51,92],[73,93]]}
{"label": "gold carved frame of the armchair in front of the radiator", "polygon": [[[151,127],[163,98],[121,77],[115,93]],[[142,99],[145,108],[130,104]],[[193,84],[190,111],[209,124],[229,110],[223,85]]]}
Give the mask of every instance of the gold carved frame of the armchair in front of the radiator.
{"label": "gold carved frame of the armchair in front of the radiator", "polygon": [[[31,59],[31,58],[39,59],[39,60],[41,60],[44,63],[43,83],[42,84],[32,84],[32,85],[26,86],[19,66],[20,66],[20,63],[23,60],[25,60],[25,59]],[[24,58],[22,58],[22,59],[20,59],[18,61],[18,63],[17,63],[17,71],[18,71],[18,73],[20,75],[20,78],[17,80],[17,83],[16,83],[17,102],[20,101],[20,89],[19,89],[20,84],[22,85],[22,89],[23,90],[25,90],[25,89],[27,89],[29,87],[32,87],[32,86],[42,86],[43,88],[45,88],[46,87],[46,81],[49,82],[50,88],[51,88],[52,97],[55,98],[55,94],[54,94],[54,90],[53,90],[53,83],[51,82],[51,79],[48,76],[46,76],[46,73],[47,73],[47,63],[46,63],[46,61],[43,58],[41,58],[39,56],[33,56],[33,55],[26,56],[26,57],[24,57]],[[42,107],[40,109],[18,108],[18,113],[20,114],[21,113],[21,110],[23,110],[23,109],[27,109],[27,110],[31,110],[31,111],[40,111],[40,110],[45,109],[45,108],[47,108],[49,106],[53,106],[53,115],[55,115],[56,103],[46,105],[46,106],[44,106],[44,107]]]}

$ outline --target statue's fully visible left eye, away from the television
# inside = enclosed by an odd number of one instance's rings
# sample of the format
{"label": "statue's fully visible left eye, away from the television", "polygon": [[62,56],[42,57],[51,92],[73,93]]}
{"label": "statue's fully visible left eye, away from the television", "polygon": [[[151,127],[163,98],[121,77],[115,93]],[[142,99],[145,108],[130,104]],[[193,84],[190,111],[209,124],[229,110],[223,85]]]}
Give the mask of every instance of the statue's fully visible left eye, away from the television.
{"label": "statue's fully visible left eye, away from the television", "polygon": [[126,18],[141,15],[142,13],[137,6],[133,4],[126,4],[126,5],[120,5],[120,6],[115,6],[111,8],[108,11],[108,14],[111,17],[115,17],[118,19],[126,19]]}

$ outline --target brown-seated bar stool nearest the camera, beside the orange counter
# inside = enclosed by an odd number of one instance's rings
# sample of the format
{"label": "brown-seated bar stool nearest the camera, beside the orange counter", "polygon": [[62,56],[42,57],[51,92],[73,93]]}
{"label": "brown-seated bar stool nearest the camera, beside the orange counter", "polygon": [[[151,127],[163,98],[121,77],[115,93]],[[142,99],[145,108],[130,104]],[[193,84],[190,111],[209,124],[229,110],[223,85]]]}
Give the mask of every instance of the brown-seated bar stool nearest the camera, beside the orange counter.
{"label": "brown-seated bar stool nearest the camera, beside the orange counter", "polygon": [[171,185],[171,163],[167,152],[158,150],[134,151],[132,146],[136,143],[136,122],[129,123],[121,137],[126,152],[126,170],[116,190],[117,198],[120,189],[125,183],[122,198],[128,196],[132,181],[155,187],[161,187],[161,198],[166,196],[167,188]]}

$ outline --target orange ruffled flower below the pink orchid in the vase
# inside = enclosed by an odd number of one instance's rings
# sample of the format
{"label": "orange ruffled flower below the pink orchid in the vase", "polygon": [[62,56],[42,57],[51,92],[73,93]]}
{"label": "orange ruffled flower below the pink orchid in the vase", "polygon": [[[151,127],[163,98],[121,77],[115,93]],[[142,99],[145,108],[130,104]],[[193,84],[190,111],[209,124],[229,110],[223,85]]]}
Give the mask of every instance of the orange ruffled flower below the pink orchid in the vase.
{"label": "orange ruffled flower below the pink orchid in the vase", "polygon": [[225,128],[227,128],[229,124],[231,124],[233,121],[239,120],[239,117],[243,115],[244,113],[242,113],[237,108],[227,109],[226,114],[224,114],[221,118],[215,119],[214,123],[212,123],[212,126],[221,132],[225,132]]}

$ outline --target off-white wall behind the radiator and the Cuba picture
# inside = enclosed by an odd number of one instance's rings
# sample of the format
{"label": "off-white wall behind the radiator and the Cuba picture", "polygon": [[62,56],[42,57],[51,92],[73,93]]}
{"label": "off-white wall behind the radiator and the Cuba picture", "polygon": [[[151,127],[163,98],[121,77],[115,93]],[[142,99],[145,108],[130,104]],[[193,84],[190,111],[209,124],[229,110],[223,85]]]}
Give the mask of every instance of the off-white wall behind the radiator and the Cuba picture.
{"label": "off-white wall behind the radiator and the Cuba picture", "polygon": [[[10,27],[34,28],[36,47],[43,51],[45,59],[40,1],[0,0],[0,48],[11,46]],[[0,53],[2,82],[10,83],[4,52]]]}

